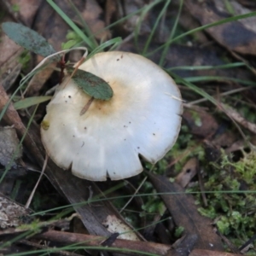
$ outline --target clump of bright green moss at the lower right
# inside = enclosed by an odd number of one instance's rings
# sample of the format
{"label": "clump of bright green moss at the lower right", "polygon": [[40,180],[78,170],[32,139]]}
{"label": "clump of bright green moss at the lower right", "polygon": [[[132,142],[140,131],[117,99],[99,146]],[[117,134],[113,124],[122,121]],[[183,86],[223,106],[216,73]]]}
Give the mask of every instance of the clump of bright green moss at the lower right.
{"label": "clump of bright green moss at the lower right", "polygon": [[[253,194],[256,191],[255,166],[255,152],[244,154],[237,162],[232,162],[223,152],[220,163],[211,163],[204,173],[205,190],[211,193],[207,193],[208,206],[199,207],[198,210],[212,218],[219,232],[237,247],[256,232],[256,198]],[[199,187],[193,190],[198,191]],[[201,195],[196,195],[196,202],[203,205]]]}

